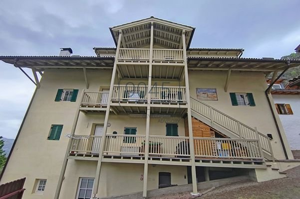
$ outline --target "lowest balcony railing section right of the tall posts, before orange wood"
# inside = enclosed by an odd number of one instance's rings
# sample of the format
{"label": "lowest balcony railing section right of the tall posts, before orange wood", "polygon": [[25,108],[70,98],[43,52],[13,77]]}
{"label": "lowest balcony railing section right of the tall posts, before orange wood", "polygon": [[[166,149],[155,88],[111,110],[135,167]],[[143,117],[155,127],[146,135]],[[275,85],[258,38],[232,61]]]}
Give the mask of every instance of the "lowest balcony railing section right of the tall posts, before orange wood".
{"label": "lowest balcony railing section right of the tall posts, before orange wood", "polygon": [[195,157],[263,159],[258,140],[194,137]]}

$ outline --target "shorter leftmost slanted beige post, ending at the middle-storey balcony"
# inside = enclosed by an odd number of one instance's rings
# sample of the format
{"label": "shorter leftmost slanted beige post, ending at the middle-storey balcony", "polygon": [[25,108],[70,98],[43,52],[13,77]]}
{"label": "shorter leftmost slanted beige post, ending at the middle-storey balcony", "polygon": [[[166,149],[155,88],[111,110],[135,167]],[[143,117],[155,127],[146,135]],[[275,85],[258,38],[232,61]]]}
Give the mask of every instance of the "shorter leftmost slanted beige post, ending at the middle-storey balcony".
{"label": "shorter leftmost slanted beige post, ending at the middle-storey balcony", "polygon": [[[76,113],[75,113],[75,117],[74,117],[74,121],[73,121],[73,126],[72,126],[72,129],[71,129],[71,134],[72,135],[75,133],[75,129],[76,129],[76,126],[77,126],[78,117],[79,117],[79,113],[80,113],[79,108],[80,108],[81,101],[83,99],[83,95],[84,95],[84,90],[82,90],[82,94],[81,94],[80,100],[77,102],[78,103],[78,107],[77,107],[77,110],[76,110]],[[60,190],[61,190],[61,186],[62,186],[62,181],[63,181],[65,170],[66,170],[67,164],[68,164],[68,155],[69,155],[69,152],[70,152],[71,144],[72,144],[72,139],[69,138],[67,149],[66,149],[66,152],[65,152],[65,155],[64,155],[64,159],[63,159],[63,162],[62,162],[62,168],[60,170],[60,175],[59,175],[58,182],[57,182],[57,187],[56,187],[54,199],[59,199]]]}

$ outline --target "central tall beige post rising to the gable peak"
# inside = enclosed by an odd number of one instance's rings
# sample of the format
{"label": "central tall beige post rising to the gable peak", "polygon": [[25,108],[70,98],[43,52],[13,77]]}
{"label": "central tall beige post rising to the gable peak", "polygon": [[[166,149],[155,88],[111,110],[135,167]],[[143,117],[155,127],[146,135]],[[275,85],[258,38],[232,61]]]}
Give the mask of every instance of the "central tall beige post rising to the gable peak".
{"label": "central tall beige post rising to the gable peak", "polygon": [[152,84],[152,59],[153,59],[153,22],[151,22],[150,30],[150,52],[149,52],[149,74],[148,74],[148,89],[147,89],[147,115],[146,115],[146,138],[145,138],[145,163],[144,163],[144,181],[143,181],[143,197],[147,197],[147,181],[148,181],[148,157],[149,157],[149,132],[150,132],[150,103]]}

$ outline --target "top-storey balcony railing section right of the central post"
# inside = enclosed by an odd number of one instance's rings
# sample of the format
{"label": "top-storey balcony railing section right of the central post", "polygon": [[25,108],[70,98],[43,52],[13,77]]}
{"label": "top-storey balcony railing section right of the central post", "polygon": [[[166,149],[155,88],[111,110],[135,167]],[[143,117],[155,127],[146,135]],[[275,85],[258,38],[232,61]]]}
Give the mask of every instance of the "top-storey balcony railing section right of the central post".
{"label": "top-storey balcony railing section right of the central post", "polygon": [[153,49],[153,60],[182,61],[182,49]]}

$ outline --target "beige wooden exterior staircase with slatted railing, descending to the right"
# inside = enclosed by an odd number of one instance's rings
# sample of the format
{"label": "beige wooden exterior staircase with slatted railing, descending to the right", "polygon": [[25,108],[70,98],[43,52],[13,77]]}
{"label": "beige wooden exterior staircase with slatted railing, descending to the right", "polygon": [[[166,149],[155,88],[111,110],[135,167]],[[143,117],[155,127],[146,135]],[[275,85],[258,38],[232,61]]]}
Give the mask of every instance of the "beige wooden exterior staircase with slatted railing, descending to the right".
{"label": "beige wooden exterior staircase with slatted railing, descending to the right", "polygon": [[230,138],[259,140],[264,158],[270,161],[275,160],[270,141],[271,139],[268,136],[192,96],[190,99],[193,117]]}

